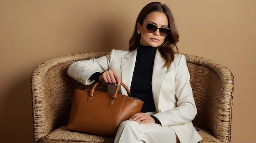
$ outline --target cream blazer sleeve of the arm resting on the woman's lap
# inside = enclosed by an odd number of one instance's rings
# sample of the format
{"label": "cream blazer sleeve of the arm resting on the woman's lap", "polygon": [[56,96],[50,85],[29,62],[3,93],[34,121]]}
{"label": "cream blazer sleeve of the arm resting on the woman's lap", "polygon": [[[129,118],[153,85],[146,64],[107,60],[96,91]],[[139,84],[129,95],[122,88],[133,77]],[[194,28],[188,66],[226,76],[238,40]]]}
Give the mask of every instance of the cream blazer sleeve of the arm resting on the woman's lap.
{"label": "cream blazer sleeve of the arm resting on the woman's lap", "polygon": [[184,55],[180,57],[175,74],[175,97],[177,98],[177,106],[154,115],[159,119],[162,126],[184,124],[192,121],[197,113],[190,84],[190,74]]}

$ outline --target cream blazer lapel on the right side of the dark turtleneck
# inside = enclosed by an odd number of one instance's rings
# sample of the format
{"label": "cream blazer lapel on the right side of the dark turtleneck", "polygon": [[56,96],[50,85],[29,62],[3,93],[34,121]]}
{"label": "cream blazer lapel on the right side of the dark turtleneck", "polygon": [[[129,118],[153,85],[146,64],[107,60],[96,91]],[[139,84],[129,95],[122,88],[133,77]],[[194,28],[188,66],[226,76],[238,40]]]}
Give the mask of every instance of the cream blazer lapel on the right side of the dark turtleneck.
{"label": "cream blazer lapel on the right side of the dark turtleneck", "polygon": [[160,55],[159,51],[155,54],[155,61],[154,61],[154,68],[153,68],[153,75],[152,75],[152,92],[155,101],[155,107],[158,111],[158,101],[159,101],[159,94],[160,89],[162,87],[162,81],[164,80],[164,74],[167,71],[166,67],[164,66],[164,59]]}

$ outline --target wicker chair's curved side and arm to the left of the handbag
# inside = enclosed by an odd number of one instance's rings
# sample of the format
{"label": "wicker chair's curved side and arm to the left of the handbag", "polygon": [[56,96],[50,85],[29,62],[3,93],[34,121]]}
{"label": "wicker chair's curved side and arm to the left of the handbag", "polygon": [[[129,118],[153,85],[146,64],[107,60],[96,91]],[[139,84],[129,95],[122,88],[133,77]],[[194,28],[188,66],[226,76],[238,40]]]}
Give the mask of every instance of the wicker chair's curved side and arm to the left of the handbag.
{"label": "wicker chair's curved side and arm to the left of the handbag", "polygon": [[75,61],[97,58],[108,52],[70,54],[46,61],[31,76],[34,142],[67,124],[74,89],[90,88],[67,75]]}

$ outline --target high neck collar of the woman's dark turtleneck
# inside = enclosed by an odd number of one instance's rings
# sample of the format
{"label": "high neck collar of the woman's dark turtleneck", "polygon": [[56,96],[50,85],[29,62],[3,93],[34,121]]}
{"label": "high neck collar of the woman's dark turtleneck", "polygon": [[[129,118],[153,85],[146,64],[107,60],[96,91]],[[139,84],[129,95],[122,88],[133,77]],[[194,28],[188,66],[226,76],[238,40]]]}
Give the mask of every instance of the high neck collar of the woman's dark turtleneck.
{"label": "high neck collar of the woman's dark turtleneck", "polygon": [[137,54],[139,56],[144,56],[144,57],[154,57],[156,51],[157,51],[157,47],[143,46],[139,44]]}

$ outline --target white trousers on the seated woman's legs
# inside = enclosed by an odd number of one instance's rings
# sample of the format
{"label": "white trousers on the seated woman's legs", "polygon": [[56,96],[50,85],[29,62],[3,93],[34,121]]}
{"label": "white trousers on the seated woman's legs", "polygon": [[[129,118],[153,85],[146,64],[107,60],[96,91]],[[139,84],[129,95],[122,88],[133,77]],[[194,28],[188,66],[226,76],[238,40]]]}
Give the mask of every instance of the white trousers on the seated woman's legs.
{"label": "white trousers on the seated woman's legs", "polygon": [[170,127],[159,124],[139,124],[137,121],[124,121],[119,126],[114,143],[180,143]]}

